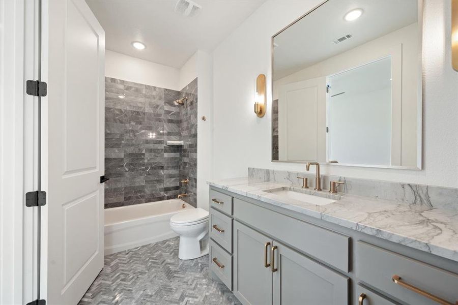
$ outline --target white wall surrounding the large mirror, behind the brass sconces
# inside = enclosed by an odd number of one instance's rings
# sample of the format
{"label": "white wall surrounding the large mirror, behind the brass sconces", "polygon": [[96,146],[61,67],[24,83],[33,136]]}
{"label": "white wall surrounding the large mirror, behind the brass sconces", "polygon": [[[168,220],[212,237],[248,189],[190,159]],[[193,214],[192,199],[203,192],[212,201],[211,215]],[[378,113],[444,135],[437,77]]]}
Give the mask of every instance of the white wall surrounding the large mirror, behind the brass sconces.
{"label": "white wall surrounding the large mirror, behind the brass sconces", "polygon": [[[272,163],[271,105],[253,113],[253,81],[267,75],[271,91],[271,36],[320,1],[269,1],[213,53],[213,175],[246,176],[247,167],[304,170],[303,164]],[[458,186],[458,73],[451,68],[450,2],[424,2],[423,170],[323,166],[324,174]]]}

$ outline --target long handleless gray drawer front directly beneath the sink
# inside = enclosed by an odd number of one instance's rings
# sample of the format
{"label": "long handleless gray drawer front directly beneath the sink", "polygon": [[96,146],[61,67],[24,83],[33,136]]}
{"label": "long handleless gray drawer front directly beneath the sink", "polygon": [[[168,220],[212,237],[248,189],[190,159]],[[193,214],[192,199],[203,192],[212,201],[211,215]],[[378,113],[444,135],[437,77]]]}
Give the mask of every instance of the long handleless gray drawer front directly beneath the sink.
{"label": "long handleless gray drawer front directly beneath the sink", "polygon": [[342,271],[349,271],[349,236],[238,198],[234,198],[234,218]]}

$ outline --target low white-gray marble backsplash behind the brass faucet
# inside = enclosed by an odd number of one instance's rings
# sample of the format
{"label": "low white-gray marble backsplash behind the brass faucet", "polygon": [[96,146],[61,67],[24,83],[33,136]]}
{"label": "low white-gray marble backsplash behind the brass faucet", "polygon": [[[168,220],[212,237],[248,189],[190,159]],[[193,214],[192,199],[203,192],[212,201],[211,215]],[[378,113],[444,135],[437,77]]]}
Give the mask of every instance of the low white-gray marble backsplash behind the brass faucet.
{"label": "low white-gray marble backsplash behind the brass faucet", "polygon": [[[278,182],[293,187],[300,187],[302,180],[298,176],[308,177],[308,186],[315,186],[314,174],[307,172],[281,171],[262,168],[248,168],[250,181]],[[339,192],[364,197],[393,200],[405,203],[411,208],[418,209],[452,209],[458,210],[458,189],[445,188],[402,182],[391,182],[383,180],[370,180],[347,178],[341,176],[321,175],[321,188],[329,190],[330,181],[344,181],[345,184],[338,188]],[[343,187],[343,188],[342,188]]]}

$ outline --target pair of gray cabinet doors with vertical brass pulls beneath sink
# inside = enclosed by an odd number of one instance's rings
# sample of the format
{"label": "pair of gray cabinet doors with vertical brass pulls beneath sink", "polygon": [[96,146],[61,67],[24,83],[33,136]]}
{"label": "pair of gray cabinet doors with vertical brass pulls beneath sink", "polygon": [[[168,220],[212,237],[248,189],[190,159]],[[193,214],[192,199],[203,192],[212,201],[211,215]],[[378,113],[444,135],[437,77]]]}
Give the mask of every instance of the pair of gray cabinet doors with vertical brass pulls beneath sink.
{"label": "pair of gray cabinet doors with vertical brass pulls beneath sink", "polygon": [[243,304],[345,305],[348,290],[349,278],[234,222],[234,294]]}

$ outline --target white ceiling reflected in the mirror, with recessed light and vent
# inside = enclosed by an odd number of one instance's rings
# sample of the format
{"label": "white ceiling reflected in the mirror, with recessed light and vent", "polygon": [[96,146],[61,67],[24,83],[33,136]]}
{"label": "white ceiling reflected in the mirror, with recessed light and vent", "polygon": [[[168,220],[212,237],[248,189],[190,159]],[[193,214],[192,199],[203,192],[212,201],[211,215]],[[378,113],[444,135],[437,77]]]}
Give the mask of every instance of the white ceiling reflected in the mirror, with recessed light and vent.
{"label": "white ceiling reflected in the mirror, with recessed light and vent", "polygon": [[[347,12],[361,8],[355,21],[345,21]],[[274,79],[353,49],[418,20],[418,2],[413,0],[330,0],[274,38]],[[352,38],[334,44],[344,35]]]}

